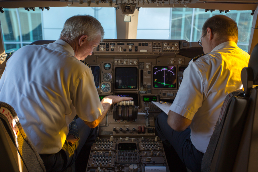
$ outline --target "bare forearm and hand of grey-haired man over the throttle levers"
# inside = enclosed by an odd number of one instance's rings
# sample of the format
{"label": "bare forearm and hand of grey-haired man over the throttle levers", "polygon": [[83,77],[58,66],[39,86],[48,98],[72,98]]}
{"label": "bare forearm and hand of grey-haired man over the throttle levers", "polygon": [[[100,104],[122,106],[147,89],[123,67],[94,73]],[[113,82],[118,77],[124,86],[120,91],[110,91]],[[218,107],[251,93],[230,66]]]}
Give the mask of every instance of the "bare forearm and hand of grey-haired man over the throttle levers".
{"label": "bare forearm and hand of grey-haired man over the throttle levers", "polygon": [[99,116],[98,119],[96,119],[95,121],[92,121],[92,122],[84,121],[85,124],[87,124],[87,126],[89,126],[90,128],[97,127],[101,123],[101,121],[106,117],[107,111],[109,110],[109,108],[112,104],[116,104],[120,101],[129,101],[129,100],[133,100],[133,98],[132,97],[120,97],[117,95],[109,95],[109,96],[104,97],[101,101],[101,104],[104,109],[101,116]]}

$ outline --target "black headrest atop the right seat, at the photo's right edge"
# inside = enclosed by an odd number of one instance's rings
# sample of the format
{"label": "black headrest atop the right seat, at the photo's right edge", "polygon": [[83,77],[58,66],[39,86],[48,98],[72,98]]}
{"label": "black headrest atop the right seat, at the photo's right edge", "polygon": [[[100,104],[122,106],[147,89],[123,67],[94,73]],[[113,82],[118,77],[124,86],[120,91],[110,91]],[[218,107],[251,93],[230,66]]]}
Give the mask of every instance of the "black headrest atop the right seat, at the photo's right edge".
{"label": "black headrest atop the right seat, at the photo's right edge", "polygon": [[258,44],[253,48],[248,67],[253,69],[253,85],[258,85]]}

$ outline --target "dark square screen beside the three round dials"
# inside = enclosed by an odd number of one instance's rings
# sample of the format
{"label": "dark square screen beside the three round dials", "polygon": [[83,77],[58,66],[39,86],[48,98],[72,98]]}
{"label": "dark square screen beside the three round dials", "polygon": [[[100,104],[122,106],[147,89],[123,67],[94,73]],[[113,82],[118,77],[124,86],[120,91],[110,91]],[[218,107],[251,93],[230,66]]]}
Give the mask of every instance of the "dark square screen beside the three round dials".
{"label": "dark square screen beside the three round dials", "polygon": [[116,67],[115,89],[137,89],[137,68]]}

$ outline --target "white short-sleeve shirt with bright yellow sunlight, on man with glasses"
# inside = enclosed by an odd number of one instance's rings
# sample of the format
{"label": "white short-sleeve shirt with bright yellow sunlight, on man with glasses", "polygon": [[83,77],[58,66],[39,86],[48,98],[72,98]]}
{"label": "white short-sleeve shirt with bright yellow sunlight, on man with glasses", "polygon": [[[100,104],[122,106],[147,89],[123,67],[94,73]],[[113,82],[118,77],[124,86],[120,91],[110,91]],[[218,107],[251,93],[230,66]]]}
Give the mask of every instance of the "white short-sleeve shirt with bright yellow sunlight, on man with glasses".
{"label": "white short-sleeve shirt with bright yellow sunlight, on man with glasses", "polygon": [[206,152],[226,95],[242,88],[241,70],[250,55],[235,42],[224,42],[212,52],[191,60],[185,69],[177,96],[169,108],[192,120],[191,142]]}

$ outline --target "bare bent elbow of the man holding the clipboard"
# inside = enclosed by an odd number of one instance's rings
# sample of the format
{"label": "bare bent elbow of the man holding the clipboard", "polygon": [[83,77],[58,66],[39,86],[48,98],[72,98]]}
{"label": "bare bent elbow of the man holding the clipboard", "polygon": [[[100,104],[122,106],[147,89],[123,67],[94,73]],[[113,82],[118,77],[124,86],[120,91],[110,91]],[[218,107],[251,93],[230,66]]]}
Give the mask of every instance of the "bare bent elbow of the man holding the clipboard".
{"label": "bare bent elbow of the man holding the clipboard", "polygon": [[191,120],[171,110],[167,115],[167,124],[169,124],[169,126],[175,131],[184,131],[192,122]]}

